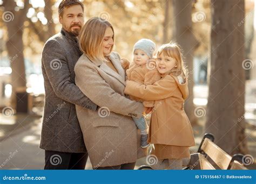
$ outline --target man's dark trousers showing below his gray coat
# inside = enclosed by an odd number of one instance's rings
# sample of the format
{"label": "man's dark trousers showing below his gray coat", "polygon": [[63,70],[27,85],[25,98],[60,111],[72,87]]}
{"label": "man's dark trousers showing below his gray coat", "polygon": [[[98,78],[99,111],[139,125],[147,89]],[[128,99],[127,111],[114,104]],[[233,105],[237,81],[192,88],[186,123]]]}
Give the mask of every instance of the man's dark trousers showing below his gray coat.
{"label": "man's dark trousers showing below his gray coat", "polygon": [[45,150],[44,169],[84,169],[87,153],[67,153]]}

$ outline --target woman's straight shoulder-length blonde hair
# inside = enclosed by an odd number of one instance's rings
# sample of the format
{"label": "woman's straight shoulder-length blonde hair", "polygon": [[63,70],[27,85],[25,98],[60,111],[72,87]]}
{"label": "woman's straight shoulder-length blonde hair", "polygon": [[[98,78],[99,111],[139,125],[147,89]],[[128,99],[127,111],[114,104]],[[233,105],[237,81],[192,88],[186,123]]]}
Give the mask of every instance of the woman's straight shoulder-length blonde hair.
{"label": "woman's straight shoulder-length blonde hair", "polygon": [[[107,27],[110,27],[113,31],[114,41],[114,29],[113,26],[107,21],[99,17],[90,18],[83,26],[79,34],[79,47],[80,50],[86,54],[90,60],[104,61],[103,55],[103,38]],[[112,52],[113,45],[110,52]]]}

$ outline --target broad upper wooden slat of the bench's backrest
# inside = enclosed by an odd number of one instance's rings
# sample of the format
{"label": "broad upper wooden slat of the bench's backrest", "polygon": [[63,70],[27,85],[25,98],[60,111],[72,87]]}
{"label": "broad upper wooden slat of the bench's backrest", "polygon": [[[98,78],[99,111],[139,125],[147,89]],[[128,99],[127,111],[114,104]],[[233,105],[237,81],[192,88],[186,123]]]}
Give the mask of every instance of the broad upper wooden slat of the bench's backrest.
{"label": "broad upper wooden slat of the bench's backrest", "polygon": [[229,154],[221,150],[219,146],[215,145],[208,138],[205,138],[201,150],[203,150],[221,169],[227,169],[232,159]]}

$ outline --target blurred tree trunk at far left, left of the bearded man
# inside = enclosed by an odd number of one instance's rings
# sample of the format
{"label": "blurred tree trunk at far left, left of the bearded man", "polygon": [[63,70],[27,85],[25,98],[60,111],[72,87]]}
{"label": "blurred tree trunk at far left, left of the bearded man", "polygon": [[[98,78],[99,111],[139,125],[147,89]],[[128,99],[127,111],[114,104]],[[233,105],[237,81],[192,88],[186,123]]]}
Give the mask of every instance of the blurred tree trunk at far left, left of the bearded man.
{"label": "blurred tree trunk at far left, left of the bearded man", "polygon": [[[26,89],[26,74],[25,74],[25,64],[23,55],[23,24],[26,18],[26,12],[28,10],[29,0],[24,1],[24,8],[15,11],[16,3],[15,1],[4,1],[4,13],[5,18],[3,19],[7,31],[8,31],[8,41],[6,43],[6,49],[8,51],[10,66],[12,69],[11,73],[11,85],[12,85],[12,95],[11,104],[16,106],[16,92],[19,90]],[[22,99],[21,99],[22,100]]]}

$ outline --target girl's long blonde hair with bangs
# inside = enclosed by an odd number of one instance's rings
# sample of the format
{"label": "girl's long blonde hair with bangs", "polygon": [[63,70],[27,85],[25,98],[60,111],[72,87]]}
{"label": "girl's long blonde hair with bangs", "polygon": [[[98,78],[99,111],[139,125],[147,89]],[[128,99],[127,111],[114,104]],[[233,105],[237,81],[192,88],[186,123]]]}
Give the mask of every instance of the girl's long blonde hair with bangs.
{"label": "girl's long blonde hair with bangs", "polygon": [[170,73],[173,73],[174,75],[180,75],[181,73],[183,73],[184,76],[187,77],[187,70],[186,70],[186,66],[183,61],[183,55],[181,52],[181,48],[177,43],[170,42],[169,44],[161,45],[157,51],[157,56],[160,54],[164,54],[171,58],[176,59],[177,68],[174,67],[170,71]]}

